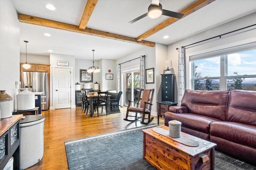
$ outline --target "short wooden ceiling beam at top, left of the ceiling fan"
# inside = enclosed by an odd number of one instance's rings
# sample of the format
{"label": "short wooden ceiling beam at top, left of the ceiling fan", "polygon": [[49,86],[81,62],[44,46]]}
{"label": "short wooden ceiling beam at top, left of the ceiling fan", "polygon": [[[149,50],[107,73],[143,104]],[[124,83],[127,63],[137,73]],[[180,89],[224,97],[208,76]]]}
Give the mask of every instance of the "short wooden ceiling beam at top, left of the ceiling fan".
{"label": "short wooden ceiling beam at top, left of the ceiling fan", "polygon": [[84,13],[79,24],[79,29],[84,30],[86,28],[97,2],[98,0],[87,0],[86,6],[84,7]]}

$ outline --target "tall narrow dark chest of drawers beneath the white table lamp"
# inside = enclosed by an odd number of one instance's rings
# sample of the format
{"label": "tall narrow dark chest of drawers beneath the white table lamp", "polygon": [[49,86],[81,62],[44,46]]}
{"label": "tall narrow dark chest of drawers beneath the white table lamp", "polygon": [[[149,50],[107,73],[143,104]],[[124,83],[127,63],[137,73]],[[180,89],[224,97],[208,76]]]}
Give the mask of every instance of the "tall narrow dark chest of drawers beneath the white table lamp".
{"label": "tall narrow dark chest of drawers beneath the white table lamp", "polygon": [[174,75],[173,74],[161,74],[162,75],[162,101],[174,102]]}

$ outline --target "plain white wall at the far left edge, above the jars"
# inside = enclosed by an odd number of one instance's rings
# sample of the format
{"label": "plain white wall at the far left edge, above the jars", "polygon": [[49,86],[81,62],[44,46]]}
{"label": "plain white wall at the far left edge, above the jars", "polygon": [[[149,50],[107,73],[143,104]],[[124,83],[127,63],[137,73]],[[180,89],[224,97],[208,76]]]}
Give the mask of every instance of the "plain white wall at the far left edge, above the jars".
{"label": "plain white wall at the far left edge, above the jars", "polygon": [[0,0],[0,89],[12,96],[14,110],[16,81],[20,82],[20,23],[12,1]]}

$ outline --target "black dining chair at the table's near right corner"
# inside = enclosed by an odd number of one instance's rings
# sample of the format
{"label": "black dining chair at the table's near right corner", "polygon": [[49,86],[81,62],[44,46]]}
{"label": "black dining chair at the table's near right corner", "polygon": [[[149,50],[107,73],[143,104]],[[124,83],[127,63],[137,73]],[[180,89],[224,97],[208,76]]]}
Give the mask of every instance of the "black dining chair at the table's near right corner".
{"label": "black dining chair at the table's near right corner", "polygon": [[103,107],[105,107],[106,115],[108,115],[108,91],[98,92],[97,101],[95,101],[93,105],[97,109],[98,117],[99,117],[99,107],[101,107],[101,113],[104,109]]}

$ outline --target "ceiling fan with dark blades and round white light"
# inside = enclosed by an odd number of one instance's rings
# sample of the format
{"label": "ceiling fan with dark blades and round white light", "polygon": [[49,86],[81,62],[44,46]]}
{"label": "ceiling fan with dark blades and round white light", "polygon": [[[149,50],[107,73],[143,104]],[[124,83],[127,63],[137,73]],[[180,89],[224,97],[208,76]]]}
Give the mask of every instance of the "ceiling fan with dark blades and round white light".
{"label": "ceiling fan with dark blades and round white light", "polygon": [[148,6],[148,12],[146,14],[143,14],[142,16],[139,16],[138,18],[135,18],[134,20],[131,20],[130,24],[144,18],[145,16],[149,16],[150,18],[158,18],[161,15],[170,16],[174,18],[181,18],[184,14],[164,10],[162,8],[162,5],[159,3],[159,0],[152,0],[152,4]]}

